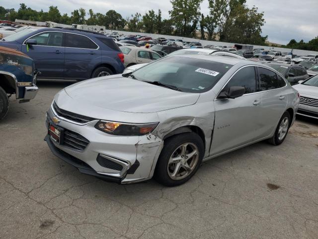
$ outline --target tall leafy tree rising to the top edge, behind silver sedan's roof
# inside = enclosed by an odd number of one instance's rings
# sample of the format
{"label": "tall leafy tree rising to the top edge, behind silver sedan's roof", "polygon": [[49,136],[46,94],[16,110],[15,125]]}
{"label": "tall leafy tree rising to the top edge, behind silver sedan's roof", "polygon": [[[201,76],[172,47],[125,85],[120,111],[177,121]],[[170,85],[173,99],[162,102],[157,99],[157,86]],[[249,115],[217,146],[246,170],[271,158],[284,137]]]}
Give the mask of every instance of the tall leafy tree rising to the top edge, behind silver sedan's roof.
{"label": "tall leafy tree rising to the top edge, behind silver sedan's roof", "polygon": [[197,26],[194,23],[198,22],[200,3],[202,1],[203,0],[170,0],[172,10],[169,11],[169,14],[175,26],[176,34],[181,36],[191,36],[195,34]]}

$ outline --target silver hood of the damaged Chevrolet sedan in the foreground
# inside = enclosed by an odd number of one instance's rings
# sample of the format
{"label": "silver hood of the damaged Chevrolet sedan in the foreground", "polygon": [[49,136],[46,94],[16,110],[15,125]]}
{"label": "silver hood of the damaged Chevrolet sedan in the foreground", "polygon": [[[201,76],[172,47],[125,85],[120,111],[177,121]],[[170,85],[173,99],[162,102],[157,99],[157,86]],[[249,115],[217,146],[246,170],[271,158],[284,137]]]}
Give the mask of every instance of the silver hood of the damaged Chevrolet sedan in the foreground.
{"label": "silver hood of the damaged Chevrolet sedan in the foreground", "polygon": [[79,82],[65,88],[65,92],[77,104],[131,113],[154,113],[193,105],[200,96],[121,75]]}

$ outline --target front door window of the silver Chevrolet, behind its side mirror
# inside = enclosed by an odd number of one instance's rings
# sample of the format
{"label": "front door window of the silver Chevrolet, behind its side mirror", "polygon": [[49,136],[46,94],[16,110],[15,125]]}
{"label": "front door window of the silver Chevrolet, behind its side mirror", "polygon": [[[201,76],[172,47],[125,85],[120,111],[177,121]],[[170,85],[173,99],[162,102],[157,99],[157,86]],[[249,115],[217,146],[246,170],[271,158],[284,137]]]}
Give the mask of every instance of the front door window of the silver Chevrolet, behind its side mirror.
{"label": "front door window of the silver Chevrolet, behind its side mirror", "polygon": [[256,77],[254,67],[244,67],[236,73],[224,88],[226,91],[231,86],[242,86],[245,94],[256,92]]}

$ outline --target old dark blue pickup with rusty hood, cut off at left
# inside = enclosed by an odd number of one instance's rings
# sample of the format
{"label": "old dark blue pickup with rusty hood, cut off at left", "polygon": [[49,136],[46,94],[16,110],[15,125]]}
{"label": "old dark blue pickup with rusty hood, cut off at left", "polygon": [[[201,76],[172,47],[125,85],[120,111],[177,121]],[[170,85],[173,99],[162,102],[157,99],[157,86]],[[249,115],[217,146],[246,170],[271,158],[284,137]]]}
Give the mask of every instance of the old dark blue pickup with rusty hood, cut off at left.
{"label": "old dark blue pickup with rusty hood, cut off at left", "polygon": [[9,110],[9,97],[15,94],[19,103],[32,100],[38,87],[33,60],[24,53],[0,47],[0,120]]}

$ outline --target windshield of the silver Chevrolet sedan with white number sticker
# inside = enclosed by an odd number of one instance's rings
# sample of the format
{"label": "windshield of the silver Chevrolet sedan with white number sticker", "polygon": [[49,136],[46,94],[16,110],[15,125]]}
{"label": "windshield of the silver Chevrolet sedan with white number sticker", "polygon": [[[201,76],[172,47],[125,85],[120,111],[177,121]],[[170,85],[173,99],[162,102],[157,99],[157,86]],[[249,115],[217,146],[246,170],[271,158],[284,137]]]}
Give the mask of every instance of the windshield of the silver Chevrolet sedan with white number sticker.
{"label": "windshield of the silver Chevrolet sedan with white number sticker", "polygon": [[188,57],[166,57],[133,72],[133,78],[159,82],[182,92],[206,92],[233,65]]}

